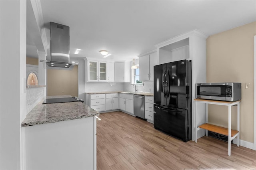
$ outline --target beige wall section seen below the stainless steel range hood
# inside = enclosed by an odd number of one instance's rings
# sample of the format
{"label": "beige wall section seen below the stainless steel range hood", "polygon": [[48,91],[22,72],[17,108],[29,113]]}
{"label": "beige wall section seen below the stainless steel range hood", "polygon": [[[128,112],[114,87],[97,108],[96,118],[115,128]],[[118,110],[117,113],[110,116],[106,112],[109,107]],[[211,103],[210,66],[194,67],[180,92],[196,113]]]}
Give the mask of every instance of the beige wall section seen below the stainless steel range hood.
{"label": "beige wall section seen below the stainless steel range hood", "polygon": [[47,95],[78,97],[78,66],[72,70],[47,69]]}

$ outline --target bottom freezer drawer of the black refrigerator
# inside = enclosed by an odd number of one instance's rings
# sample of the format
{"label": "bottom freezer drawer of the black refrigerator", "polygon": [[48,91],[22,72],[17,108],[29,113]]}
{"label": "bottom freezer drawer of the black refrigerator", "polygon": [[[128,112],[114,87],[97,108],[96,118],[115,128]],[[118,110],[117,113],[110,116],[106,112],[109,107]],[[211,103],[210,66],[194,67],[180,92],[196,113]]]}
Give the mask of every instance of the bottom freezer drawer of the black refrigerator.
{"label": "bottom freezer drawer of the black refrigerator", "polygon": [[154,105],[154,128],[184,142],[191,140],[191,128],[187,109]]}

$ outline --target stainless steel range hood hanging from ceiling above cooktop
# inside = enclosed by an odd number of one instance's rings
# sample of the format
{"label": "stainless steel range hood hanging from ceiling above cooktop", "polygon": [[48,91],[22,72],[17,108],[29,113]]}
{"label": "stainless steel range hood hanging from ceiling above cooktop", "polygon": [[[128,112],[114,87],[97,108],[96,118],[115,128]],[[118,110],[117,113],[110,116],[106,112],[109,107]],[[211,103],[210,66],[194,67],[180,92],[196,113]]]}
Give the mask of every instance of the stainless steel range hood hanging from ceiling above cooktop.
{"label": "stainless steel range hood hanging from ceiling above cooktop", "polygon": [[48,67],[69,68],[71,65],[78,63],[70,63],[70,47],[69,47],[69,26],[50,22],[50,61],[40,60]]}

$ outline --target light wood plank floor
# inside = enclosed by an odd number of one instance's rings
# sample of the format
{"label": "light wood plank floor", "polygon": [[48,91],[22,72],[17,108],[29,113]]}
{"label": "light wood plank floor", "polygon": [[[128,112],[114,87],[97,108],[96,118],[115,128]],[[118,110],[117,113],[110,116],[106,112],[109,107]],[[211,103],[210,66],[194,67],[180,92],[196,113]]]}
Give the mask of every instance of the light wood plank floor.
{"label": "light wood plank floor", "polygon": [[97,120],[97,170],[252,169],[256,151],[211,137],[182,142],[122,112]]}

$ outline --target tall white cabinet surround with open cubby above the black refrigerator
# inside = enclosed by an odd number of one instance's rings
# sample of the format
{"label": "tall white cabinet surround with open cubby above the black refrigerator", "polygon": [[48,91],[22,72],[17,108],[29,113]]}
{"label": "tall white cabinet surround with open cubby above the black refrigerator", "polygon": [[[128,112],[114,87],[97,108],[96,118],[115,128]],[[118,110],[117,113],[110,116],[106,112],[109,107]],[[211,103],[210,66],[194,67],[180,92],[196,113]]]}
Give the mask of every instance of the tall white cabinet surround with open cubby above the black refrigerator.
{"label": "tall white cabinet surround with open cubby above the black refrigerator", "polygon": [[[178,61],[182,59],[192,60],[192,108],[196,94],[196,83],[206,82],[206,36],[198,30],[186,32],[164,42],[156,44],[159,64]],[[198,122],[205,120],[206,105],[198,106]],[[192,140],[196,140],[195,113],[192,109]],[[198,137],[204,136],[204,130],[198,131]]]}

